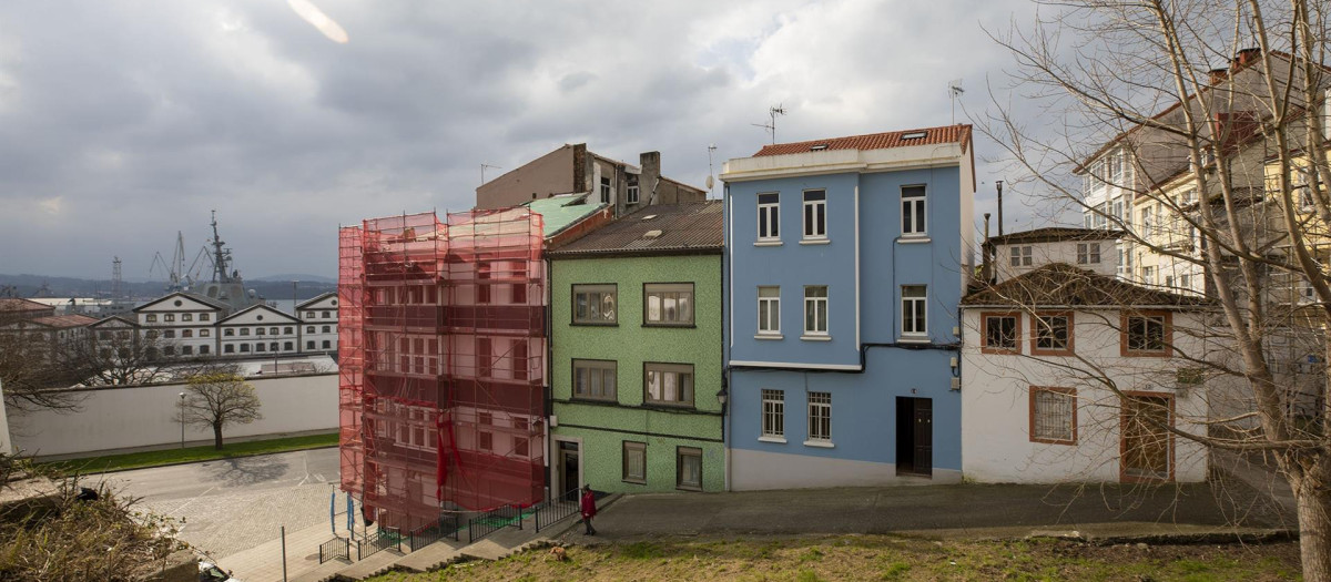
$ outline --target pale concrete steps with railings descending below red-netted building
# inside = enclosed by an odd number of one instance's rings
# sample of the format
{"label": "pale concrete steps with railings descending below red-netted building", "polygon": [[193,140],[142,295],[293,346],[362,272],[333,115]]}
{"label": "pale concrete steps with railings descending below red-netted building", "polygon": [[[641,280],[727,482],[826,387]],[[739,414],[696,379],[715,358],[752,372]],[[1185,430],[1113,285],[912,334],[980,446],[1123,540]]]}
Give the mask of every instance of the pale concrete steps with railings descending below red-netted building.
{"label": "pale concrete steps with railings descending below red-netted building", "polygon": [[[614,504],[619,497],[619,494],[610,494],[598,500],[598,510]],[[471,543],[467,542],[467,532],[463,529],[459,532],[462,539],[457,542],[441,539],[407,554],[391,549],[382,550],[359,562],[335,559],[293,578],[293,582],[361,581],[389,571],[425,573],[442,570],[455,562],[503,559],[520,551],[551,546],[556,538],[576,526],[578,522],[578,514],[572,514],[542,528],[540,533],[536,533],[536,521],[528,516],[522,520],[522,529],[503,528]]]}

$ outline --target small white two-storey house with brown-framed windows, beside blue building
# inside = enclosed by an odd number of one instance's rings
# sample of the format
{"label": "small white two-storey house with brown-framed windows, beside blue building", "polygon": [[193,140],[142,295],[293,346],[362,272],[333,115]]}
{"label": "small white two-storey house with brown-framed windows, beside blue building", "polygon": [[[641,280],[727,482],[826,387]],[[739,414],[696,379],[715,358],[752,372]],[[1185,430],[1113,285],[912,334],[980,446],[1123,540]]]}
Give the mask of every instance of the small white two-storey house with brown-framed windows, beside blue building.
{"label": "small white two-storey house with brown-framed windows, beside blue building", "polygon": [[961,307],[966,478],[1206,478],[1206,449],[1165,428],[1205,435],[1211,405],[1238,393],[1193,361],[1231,355],[1206,299],[1050,264]]}

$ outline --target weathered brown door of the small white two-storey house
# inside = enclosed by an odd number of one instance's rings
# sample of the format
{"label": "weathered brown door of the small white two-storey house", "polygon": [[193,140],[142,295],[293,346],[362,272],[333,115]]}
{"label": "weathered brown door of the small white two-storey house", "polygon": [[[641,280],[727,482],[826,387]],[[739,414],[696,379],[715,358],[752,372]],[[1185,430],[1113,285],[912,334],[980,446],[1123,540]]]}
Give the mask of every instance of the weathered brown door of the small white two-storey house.
{"label": "weathered brown door of the small white two-storey house", "polygon": [[1173,401],[1167,396],[1126,396],[1122,413],[1122,474],[1125,481],[1173,478]]}

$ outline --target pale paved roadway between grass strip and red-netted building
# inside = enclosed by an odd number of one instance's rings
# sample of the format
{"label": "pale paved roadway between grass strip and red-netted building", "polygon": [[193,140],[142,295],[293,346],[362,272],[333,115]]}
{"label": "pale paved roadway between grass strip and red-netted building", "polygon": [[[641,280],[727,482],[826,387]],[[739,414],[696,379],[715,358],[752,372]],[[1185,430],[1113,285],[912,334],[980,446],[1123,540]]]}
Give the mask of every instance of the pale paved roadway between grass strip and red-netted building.
{"label": "pale paved roadway between grass strip and red-netted building", "polygon": [[[182,521],[180,538],[213,557],[327,521],[335,448],[226,458],[106,474],[140,506]],[[339,497],[341,501],[341,497]],[[343,501],[345,502],[345,501]]]}

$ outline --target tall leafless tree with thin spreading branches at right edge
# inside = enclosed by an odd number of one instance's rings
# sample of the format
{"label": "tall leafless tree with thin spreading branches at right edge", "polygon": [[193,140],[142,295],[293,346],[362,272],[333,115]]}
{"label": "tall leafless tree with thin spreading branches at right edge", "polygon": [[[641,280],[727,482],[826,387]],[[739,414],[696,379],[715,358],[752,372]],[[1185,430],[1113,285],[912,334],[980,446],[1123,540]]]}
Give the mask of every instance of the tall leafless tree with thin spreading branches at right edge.
{"label": "tall leafless tree with thin spreading branches at right edge", "polygon": [[[1175,435],[1268,456],[1296,500],[1303,575],[1331,581],[1327,4],[1040,4],[1033,25],[993,36],[1016,58],[1021,102],[1044,110],[996,104],[981,133],[1055,202],[1042,207],[1126,233],[1125,278],[1205,282],[1178,291],[1215,300],[1234,357],[1207,364],[1242,380],[1250,409]],[[1287,381],[1290,344],[1314,351],[1298,364],[1319,368],[1316,383]]]}

